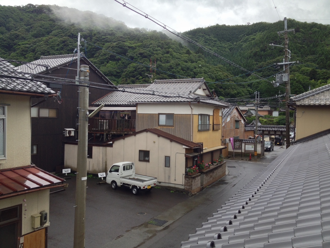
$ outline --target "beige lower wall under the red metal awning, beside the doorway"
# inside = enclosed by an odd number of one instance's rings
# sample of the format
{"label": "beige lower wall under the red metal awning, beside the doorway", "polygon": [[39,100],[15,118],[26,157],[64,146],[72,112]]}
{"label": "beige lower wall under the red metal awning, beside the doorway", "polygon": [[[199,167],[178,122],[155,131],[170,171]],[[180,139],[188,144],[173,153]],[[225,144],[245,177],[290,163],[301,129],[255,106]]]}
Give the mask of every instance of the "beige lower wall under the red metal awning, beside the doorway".
{"label": "beige lower wall under the red metal awning, beside the doorway", "polygon": [[[26,201],[24,202],[23,199],[26,199]],[[26,203],[26,206],[24,206],[24,203]],[[0,200],[0,209],[16,205],[22,205],[22,235],[32,232],[34,231],[34,228],[32,228],[31,215],[39,214],[41,211],[46,211],[48,213],[49,220],[49,189]],[[26,215],[24,215],[24,213]],[[46,225],[48,224],[49,222]]]}

